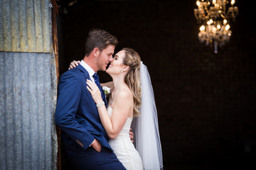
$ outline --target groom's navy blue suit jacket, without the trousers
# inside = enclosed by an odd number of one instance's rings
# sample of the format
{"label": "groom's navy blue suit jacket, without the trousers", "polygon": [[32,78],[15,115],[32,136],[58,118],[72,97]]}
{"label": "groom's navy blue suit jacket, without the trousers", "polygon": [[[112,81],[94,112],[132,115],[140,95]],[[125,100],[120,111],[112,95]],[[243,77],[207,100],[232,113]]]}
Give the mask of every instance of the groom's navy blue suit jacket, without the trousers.
{"label": "groom's navy blue suit jacket, without the trousers", "polygon": [[60,77],[55,123],[61,129],[64,147],[71,141],[87,149],[97,139],[102,147],[111,149],[95,101],[87,90],[87,79],[89,73],[80,64]]}

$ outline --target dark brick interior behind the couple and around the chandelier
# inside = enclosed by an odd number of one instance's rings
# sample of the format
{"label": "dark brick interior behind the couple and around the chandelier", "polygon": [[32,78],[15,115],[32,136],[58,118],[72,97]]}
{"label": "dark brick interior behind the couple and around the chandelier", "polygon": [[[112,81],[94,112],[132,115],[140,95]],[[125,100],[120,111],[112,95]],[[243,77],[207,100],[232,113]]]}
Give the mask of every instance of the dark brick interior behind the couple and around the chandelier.
{"label": "dark brick interior behind the couple and around the chandelier", "polygon": [[[233,36],[218,54],[198,40],[196,0],[68,3],[58,1],[60,74],[82,60],[91,28],[115,35],[115,52],[137,50],[154,88],[164,169],[255,169],[256,29],[248,1],[236,3]],[[111,80],[104,72],[100,79]]]}

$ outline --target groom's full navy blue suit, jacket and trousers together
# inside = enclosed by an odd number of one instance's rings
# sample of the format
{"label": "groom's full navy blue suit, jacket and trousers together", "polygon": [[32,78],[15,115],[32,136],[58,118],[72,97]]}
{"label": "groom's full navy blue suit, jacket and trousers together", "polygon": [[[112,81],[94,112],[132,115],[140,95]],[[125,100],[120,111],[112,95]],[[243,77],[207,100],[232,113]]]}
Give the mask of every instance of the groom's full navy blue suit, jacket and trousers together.
{"label": "groom's full navy blue suit, jacket and trousers together", "polygon": [[[87,79],[89,73],[80,64],[60,77],[55,123],[61,129],[65,156],[74,169],[124,169],[107,142]],[[104,92],[102,98],[107,106]],[[89,147],[95,139],[102,145],[101,152]]]}

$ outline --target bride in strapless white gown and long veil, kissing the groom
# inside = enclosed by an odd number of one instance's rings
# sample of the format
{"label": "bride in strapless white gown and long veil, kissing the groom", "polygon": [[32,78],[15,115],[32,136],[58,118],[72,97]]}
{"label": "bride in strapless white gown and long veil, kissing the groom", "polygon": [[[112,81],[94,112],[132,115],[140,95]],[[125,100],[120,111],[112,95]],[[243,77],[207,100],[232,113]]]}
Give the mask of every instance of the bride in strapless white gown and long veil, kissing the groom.
{"label": "bride in strapless white gown and long veil, kissing the groom", "polygon": [[[70,68],[74,66],[75,61]],[[107,108],[95,83],[87,80],[87,89],[98,106],[117,159],[126,169],[163,169],[154,92],[139,54],[132,48],[123,48],[106,72],[113,79],[101,84],[112,89]],[[129,137],[131,125],[135,129],[136,149]]]}

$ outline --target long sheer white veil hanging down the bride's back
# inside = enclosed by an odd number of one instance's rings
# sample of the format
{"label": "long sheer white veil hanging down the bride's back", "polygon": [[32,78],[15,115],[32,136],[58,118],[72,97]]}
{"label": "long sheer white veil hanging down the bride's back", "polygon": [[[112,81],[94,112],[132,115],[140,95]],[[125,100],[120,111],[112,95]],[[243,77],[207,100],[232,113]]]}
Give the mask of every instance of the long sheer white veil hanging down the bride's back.
{"label": "long sheer white veil hanging down the bride's back", "polygon": [[134,118],[132,125],[134,145],[142,157],[144,170],[162,170],[163,158],[154,91],[148,69],[143,62],[141,62],[140,73],[142,80],[142,106],[139,111],[142,115]]}

